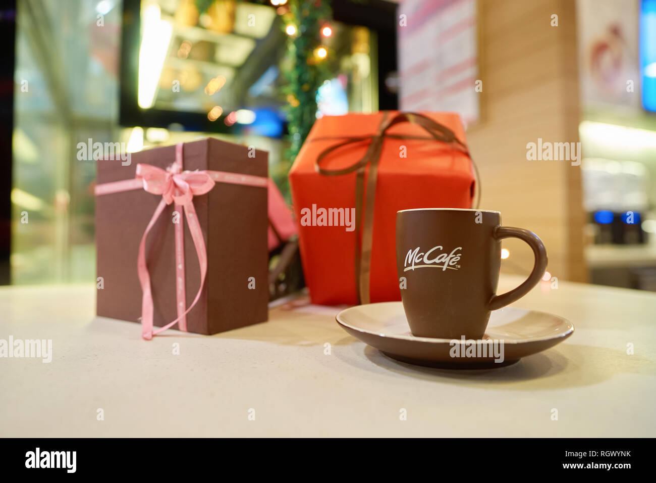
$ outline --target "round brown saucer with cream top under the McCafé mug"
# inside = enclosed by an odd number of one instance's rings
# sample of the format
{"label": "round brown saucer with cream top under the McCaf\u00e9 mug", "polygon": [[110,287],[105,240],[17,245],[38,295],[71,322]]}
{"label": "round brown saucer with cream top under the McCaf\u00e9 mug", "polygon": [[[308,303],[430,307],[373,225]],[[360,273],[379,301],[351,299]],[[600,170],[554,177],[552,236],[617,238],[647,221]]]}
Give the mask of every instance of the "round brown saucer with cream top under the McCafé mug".
{"label": "round brown saucer with cream top under the McCaf\u00e9 mug", "polygon": [[[574,332],[571,322],[558,315],[504,307],[491,313],[483,340],[415,337],[410,333],[401,302],[354,306],[338,313],[337,323],[393,359],[445,369],[504,367],[553,347]],[[502,354],[501,344],[497,344],[496,356],[483,353],[483,345],[489,351],[489,342],[493,340],[503,341]]]}

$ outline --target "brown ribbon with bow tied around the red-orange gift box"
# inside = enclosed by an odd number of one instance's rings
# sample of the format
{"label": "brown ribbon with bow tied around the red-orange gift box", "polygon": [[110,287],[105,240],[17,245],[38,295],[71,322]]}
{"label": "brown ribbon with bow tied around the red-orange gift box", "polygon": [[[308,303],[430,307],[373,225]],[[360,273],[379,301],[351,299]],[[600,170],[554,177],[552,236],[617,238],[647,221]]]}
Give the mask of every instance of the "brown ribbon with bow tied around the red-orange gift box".
{"label": "brown ribbon with bow tied around the red-orange gift box", "polygon": [[[387,130],[396,124],[409,122],[417,124],[430,134],[430,137],[419,136],[405,136],[405,135],[390,135]],[[455,136],[453,131],[442,124],[435,122],[422,114],[416,112],[400,112],[393,118],[390,118],[388,112],[384,112],[382,121],[378,128],[378,132],[374,135],[367,136],[354,136],[342,137],[344,139],[341,143],[328,147],[321,151],[316,160],[316,170],[318,173],[326,176],[340,176],[349,173],[356,173],[356,288],[358,290],[358,300],[360,304],[369,304],[371,298],[369,297],[369,281],[371,279],[371,248],[373,246],[373,208],[375,201],[376,181],[378,178],[378,165],[380,162],[380,152],[385,138],[390,139],[426,139],[441,141],[454,147],[455,149],[464,152],[469,156],[467,147]],[[312,141],[319,141],[320,139],[336,139],[335,137],[317,137]],[[365,155],[356,163],[346,168],[338,170],[327,170],[321,167],[321,162],[325,160],[326,156],[331,152],[340,149],[346,145],[353,143],[363,143],[369,141],[369,147]],[[365,197],[365,172],[369,166],[369,176],[367,176],[366,197]],[[476,208],[480,203],[481,189],[478,177],[478,168],[472,160],[474,166],[474,176],[477,189]],[[364,219],[362,213],[364,212]],[[361,233],[361,237],[359,237]],[[359,239],[361,238],[361,242]]]}

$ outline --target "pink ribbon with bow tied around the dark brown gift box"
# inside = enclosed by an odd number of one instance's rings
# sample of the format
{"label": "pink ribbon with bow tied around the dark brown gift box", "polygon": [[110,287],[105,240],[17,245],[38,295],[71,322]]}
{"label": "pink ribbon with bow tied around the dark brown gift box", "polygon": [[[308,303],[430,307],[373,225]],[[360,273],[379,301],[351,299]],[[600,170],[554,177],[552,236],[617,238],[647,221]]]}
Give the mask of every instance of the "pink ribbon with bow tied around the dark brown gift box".
{"label": "pink ribbon with bow tied around the dark brown gift box", "polygon": [[[182,147],[183,143],[178,143],[175,147],[175,162],[166,170],[157,168],[150,164],[137,164],[134,179],[125,179],[123,181],[114,181],[113,183],[103,183],[96,186],[96,195],[109,195],[111,193],[120,193],[133,189],[143,188],[153,195],[161,195],[162,200],[155,208],[155,212],[144,231],[139,243],[139,252],[137,256],[136,269],[139,276],[139,283],[142,289],[141,304],[141,335],[144,339],[150,340],[155,334],[159,334],[178,323],[181,331],[187,330],[186,315],[198,302],[203,291],[205,276],[207,275],[207,250],[205,250],[205,240],[201,231],[196,210],[194,208],[194,196],[205,195],[215,185],[220,183],[233,183],[239,185],[266,187],[268,179],[260,176],[242,175],[237,173],[227,173],[220,171],[182,171]],[[184,277],[184,227],[182,218],[175,224],[175,270],[176,270],[176,310],[178,317],[153,330],[154,320],[154,302],[152,290],[150,287],[150,274],[146,267],[146,238],[150,229],[155,225],[155,221],[162,214],[164,208],[174,203],[175,210],[178,213],[184,212],[189,225],[189,231],[194,241],[198,264],[201,271],[201,283],[194,302],[185,310],[186,291]]]}

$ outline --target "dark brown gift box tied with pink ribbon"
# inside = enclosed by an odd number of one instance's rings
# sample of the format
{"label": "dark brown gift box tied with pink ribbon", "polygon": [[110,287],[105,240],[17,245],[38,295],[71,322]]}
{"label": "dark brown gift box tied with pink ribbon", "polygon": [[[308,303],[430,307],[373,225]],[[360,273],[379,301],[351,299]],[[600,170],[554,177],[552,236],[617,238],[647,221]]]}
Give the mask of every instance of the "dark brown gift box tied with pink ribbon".
{"label": "dark brown gift box tied with pink ribbon", "polygon": [[[256,150],[255,157],[249,157],[249,148],[218,139],[185,143],[183,149],[183,169],[189,171],[211,170],[266,178],[267,159],[265,151]],[[122,166],[120,159],[99,160],[96,185],[133,179],[138,163],[166,169],[174,160],[174,146],[133,153],[129,166]],[[98,315],[134,322],[140,319],[142,289],[136,267],[138,246],[161,200],[161,195],[144,189],[96,196],[97,275],[102,277]],[[266,321],[266,185],[216,182],[209,193],[194,196],[193,203],[207,247],[207,277],[197,304],[186,315],[188,331],[215,334]],[[158,327],[177,318],[173,212],[174,204],[166,206],[146,242],[154,325]],[[201,281],[187,223],[184,223],[184,262],[188,307]]]}

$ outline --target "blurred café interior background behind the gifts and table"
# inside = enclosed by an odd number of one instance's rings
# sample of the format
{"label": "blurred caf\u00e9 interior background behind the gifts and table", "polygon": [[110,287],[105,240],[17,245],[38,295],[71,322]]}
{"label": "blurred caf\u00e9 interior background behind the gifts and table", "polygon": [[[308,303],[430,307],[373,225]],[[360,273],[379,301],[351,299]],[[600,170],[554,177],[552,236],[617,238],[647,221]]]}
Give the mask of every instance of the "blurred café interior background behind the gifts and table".
{"label": "blurred caf\u00e9 interior background behind the gifts and table", "polygon": [[[0,7],[0,283],[95,281],[95,162],[215,136],[287,171],[316,118],[461,114],[482,208],[554,279],[656,291],[656,0],[20,0]],[[580,166],[527,144],[581,143]],[[532,254],[504,241],[502,271]]]}

